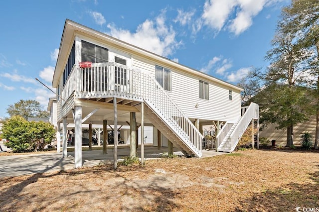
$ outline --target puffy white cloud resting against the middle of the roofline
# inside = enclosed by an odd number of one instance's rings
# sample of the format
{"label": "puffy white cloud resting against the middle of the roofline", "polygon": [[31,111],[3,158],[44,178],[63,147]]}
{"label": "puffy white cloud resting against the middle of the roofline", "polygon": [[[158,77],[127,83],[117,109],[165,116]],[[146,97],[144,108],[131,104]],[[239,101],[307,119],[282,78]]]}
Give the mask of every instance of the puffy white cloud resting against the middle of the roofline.
{"label": "puffy white cloud resting against the middle of the roofline", "polygon": [[182,44],[175,40],[175,31],[165,24],[165,11],[155,20],[145,20],[134,33],[108,24],[110,35],[133,45],[139,46],[161,56],[172,55]]}

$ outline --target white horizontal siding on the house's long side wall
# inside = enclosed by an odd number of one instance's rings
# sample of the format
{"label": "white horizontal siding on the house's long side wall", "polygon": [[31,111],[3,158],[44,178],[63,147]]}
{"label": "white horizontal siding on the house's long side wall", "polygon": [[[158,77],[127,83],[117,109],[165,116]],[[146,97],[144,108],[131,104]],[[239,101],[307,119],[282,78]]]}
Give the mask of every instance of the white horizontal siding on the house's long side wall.
{"label": "white horizontal siding on the house's long side wall", "polygon": [[[156,63],[132,56],[134,68],[155,73]],[[157,64],[166,67],[164,64]],[[171,69],[170,67],[167,67]],[[240,92],[207,81],[206,79],[171,69],[171,92],[168,95],[189,118],[223,120],[235,122],[240,117]],[[209,83],[209,100],[199,99],[198,81]],[[229,100],[229,90],[233,91],[233,100]],[[198,108],[195,105],[198,104]]]}

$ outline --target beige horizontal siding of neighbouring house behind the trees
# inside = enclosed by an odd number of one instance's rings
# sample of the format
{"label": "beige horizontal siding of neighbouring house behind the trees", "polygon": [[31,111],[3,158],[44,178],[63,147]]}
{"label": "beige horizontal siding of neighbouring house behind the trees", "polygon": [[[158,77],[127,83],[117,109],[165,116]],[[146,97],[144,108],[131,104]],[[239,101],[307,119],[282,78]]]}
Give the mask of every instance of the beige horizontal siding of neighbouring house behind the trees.
{"label": "beige horizontal siding of neighbouring house behind the trees", "polygon": [[[270,141],[276,140],[276,145],[285,146],[287,144],[287,129],[278,130],[276,124],[269,124],[264,130],[260,131],[260,137],[267,137]],[[308,121],[294,126],[294,145],[301,145],[302,134],[310,132],[313,136],[313,144],[316,135],[316,116],[312,116]]]}

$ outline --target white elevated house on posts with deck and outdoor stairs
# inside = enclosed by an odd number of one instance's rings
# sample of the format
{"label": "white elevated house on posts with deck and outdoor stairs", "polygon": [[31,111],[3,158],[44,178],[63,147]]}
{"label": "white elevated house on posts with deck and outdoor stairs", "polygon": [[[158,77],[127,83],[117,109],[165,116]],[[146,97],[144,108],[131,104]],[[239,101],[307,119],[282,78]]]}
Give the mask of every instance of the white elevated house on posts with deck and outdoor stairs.
{"label": "white elevated house on posts with deck and outdoor stairs", "polygon": [[259,117],[256,104],[241,115],[241,88],[71,20],[64,25],[52,86],[64,157],[66,125],[75,124],[75,167],[82,166],[82,123],[129,125],[131,156],[138,126],[141,140],[144,126],[153,126],[156,145],[166,142],[169,152],[174,146],[201,157],[202,125],[214,124],[217,150],[231,152]]}

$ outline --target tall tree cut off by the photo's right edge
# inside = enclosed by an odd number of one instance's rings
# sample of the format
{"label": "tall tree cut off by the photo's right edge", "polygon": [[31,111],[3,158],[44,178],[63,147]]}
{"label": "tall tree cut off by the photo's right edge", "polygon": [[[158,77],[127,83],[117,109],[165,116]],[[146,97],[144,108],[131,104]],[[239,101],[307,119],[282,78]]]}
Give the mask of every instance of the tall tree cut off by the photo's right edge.
{"label": "tall tree cut off by the photo's right edge", "polygon": [[308,73],[312,76],[309,85],[314,86],[317,100],[317,127],[315,149],[319,148],[319,1],[293,0],[292,4],[284,7],[282,20],[285,21],[285,32],[296,36],[296,43],[308,50],[312,59],[308,61]]}

